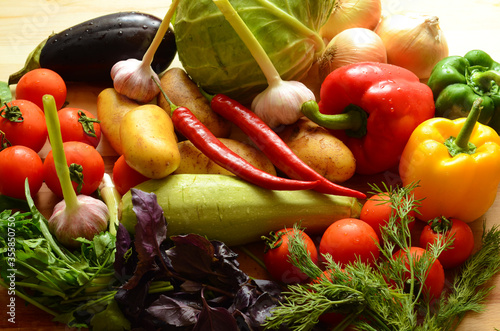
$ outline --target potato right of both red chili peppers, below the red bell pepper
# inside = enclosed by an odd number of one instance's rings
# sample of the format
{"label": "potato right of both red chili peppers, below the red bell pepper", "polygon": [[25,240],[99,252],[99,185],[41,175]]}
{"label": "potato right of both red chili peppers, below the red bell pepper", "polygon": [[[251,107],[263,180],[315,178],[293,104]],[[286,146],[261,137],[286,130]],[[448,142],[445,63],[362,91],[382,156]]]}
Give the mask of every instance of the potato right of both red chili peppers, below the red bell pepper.
{"label": "potato right of both red chili peppers, below the red bell pepper", "polygon": [[302,161],[328,180],[342,183],[354,175],[356,159],[351,150],[311,120],[301,118],[278,134]]}

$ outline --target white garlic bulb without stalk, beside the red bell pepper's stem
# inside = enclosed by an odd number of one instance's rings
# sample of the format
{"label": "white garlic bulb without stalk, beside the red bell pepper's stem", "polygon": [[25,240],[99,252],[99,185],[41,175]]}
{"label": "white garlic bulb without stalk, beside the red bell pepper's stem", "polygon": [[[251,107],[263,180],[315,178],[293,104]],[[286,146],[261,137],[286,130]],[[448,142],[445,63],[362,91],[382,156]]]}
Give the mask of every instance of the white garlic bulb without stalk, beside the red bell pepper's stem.
{"label": "white garlic bulb without stalk, beside the red bell pepper's stem", "polygon": [[276,80],[252,101],[252,111],[269,127],[289,125],[302,117],[301,107],[316,98],[314,93],[298,81]]}

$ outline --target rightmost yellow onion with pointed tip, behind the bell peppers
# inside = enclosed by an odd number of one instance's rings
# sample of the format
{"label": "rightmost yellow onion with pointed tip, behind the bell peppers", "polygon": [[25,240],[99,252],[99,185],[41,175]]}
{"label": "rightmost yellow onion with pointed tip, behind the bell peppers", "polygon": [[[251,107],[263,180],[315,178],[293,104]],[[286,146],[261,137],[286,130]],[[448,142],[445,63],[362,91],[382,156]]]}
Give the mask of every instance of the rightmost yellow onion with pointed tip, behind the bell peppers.
{"label": "rightmost yellow onion with pointed tip, behind the bell peppers", "polygon": [[375,32],[384,42],[387,62],[412,71],[421,80],[448,56],[448,43],[436,16],[405,13],[384,16]]}

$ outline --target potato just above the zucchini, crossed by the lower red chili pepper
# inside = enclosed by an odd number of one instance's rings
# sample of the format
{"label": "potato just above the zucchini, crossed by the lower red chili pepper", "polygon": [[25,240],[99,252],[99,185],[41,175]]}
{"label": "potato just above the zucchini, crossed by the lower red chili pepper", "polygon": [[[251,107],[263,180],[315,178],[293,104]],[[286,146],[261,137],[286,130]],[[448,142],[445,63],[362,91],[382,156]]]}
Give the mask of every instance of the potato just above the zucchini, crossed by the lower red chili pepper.
{"label": "potato just above the zucchini, crossed by the lower red chili pepper", "polygon": [[[254,167],[259,168],[271,175],[276,176],[276,168],[271,161],[258,149],[242,142],[219,138],[230,150],[247,160]],[[174,174],[221,174],[234,175],[232,172],[222,168],[205,154],[203,154],[189,140],[178,143],[181,163]]]}

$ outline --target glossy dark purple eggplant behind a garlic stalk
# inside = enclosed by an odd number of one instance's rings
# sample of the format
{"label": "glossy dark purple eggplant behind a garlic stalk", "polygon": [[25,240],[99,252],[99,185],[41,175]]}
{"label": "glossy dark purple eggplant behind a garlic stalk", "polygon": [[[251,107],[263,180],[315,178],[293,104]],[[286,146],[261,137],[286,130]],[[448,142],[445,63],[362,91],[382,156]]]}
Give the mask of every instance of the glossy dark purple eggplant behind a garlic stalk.
{"label": "glossy dark purple eggplant behind a garlic stalk", "polygon": [[[117,12],[79,23],[50,35],[29,55],[25,67],[10,75],[16,84],[28,71],[47,68],[67,82],[112,82],[113,65],[129,58],[142,59],[161,19],[140,12]],[[152,63],[156,73],[166,70],[177,53],[169,27]]]}

